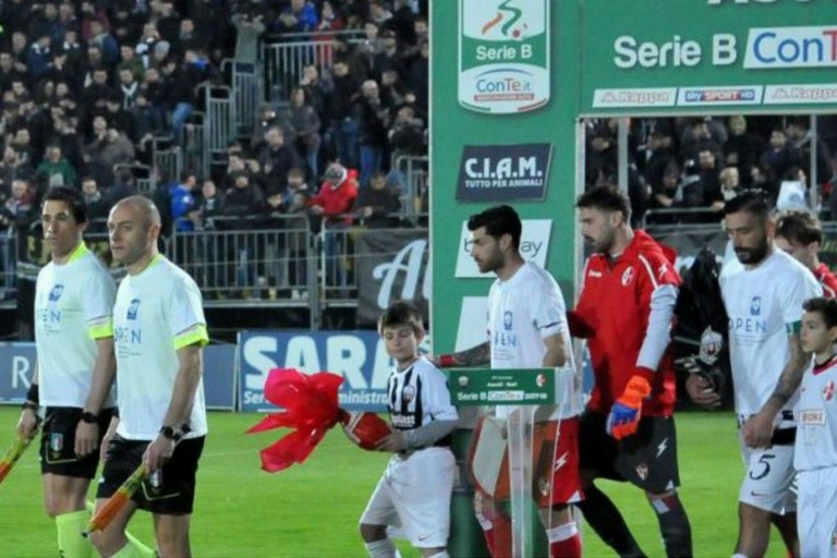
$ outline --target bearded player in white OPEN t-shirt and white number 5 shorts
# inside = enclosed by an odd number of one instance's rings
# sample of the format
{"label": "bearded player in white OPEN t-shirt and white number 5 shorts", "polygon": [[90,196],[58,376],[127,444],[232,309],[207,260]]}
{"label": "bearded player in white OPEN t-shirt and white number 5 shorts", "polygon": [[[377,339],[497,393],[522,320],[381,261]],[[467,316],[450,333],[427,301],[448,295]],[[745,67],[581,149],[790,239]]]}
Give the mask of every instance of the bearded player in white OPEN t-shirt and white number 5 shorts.
{"label": "bearded player in white OPEN t-shirt and white number 5 shorts", "polygon": [[[740,266],[720,276],[729,316],[729,355],[741,452],[747,469],[739,493],[736,557],[764,556],[771,523],[798,556],[793,480],[792,408],[811,360],[799,331],[802,303],[821,296],[814,276],[774,246],[775,222],[767,196],[744,191],[725,206],[726,229]],[[706,407],[719,396],[691,375],[687,390]]]}

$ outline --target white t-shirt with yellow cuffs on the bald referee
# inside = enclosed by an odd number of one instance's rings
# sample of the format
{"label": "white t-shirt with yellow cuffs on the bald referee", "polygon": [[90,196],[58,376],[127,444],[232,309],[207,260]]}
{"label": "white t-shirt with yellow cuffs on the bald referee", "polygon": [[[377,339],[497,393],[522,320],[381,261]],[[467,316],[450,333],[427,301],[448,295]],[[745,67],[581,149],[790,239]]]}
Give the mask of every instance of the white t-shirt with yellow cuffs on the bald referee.
{"label": "white t-shirt with yellow cuffs on the bald referee", "polygon": [[[153,440],[163,426],[174,389],[177,351],[209,340],[201,291],[185,271],[159,255],[146,269],[120,283],[113,332],[120,414],[117,433],[126,439]],[[189,426],[187,438],[206,434],[203,378]]]}

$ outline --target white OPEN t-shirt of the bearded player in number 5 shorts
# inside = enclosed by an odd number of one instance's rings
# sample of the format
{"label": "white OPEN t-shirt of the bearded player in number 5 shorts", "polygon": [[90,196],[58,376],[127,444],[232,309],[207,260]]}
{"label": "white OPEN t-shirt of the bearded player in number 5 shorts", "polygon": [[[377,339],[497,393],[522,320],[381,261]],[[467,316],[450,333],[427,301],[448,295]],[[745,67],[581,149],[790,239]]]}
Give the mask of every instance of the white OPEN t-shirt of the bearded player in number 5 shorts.
{"label": "white OPEN t-shirt of the bearded player in number 5 shorts", "polygon": [[[802,303],[822,296],[823,289],[802,264],[774,250],[753,269],[724,266],[720,290],[729,316],[736,412],[752,415],[767,402],[790,360],[788,335],[800,325]],[[794,395],[785,409],[796,401]]]}

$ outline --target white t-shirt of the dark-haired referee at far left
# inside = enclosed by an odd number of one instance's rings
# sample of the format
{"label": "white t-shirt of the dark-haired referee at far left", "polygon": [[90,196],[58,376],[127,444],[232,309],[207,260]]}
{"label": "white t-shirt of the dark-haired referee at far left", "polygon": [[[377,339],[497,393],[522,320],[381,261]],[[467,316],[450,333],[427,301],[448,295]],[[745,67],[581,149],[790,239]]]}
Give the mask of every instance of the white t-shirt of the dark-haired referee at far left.
{"label": "white t-shirt of the dark-haired referee at far left", "polygon": [[[50,262],[35,287],[35,340],[40,403],[83,408],[98,348],[113,336],[117,286],[84,243],[65,264]],[[112,393],[105,407],[113,407]]]}

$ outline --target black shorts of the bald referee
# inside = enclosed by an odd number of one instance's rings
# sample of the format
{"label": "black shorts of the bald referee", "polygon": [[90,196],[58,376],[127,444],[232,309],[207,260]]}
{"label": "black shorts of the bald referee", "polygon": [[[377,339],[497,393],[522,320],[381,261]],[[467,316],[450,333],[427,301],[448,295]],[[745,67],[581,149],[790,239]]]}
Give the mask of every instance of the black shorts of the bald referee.
{"label": "black shorts of the bald referee", "polygon": [[[162,470],[143,481],[132,498],[141,510],[167,515],[192,513],[197,461],[205,439],[201,436],[181,440]],[[120,436],[111,438],[96,498],[110,498],[119,489],[143,462],[148,444],[148,440],[126,440]]]}

